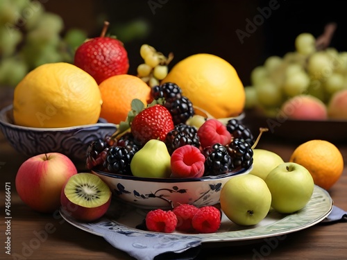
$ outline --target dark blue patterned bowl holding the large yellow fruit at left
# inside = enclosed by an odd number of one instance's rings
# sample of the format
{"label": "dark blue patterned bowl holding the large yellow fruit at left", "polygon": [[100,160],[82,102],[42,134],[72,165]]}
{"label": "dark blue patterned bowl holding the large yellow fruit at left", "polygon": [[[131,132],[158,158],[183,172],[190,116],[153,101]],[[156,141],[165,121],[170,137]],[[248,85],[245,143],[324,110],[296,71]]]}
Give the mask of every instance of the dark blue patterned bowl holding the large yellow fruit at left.
{"label": "dark blue patterned bowl holding the large yellow fruit at left", "polygon": [[57,152],[85,162],[90,142],[113,134],[117,125],[96,123],[69,128],[28,128],[13,124],[12,105],[9,105],[0,111],[0,128],[10,144],[26,156]]}

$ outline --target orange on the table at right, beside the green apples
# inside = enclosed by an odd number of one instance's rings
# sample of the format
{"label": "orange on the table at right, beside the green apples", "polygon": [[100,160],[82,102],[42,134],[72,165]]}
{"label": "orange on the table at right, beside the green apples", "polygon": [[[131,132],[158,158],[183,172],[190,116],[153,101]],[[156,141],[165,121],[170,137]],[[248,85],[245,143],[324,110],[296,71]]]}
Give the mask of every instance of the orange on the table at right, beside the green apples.
{"label": "orange on the table at right, beside the green apples", "polygon": [[344,158],[329,141],[311,140],[298,146],[289,162],[301,164],[310,171],[314,184],[330,189],[344,171]]}

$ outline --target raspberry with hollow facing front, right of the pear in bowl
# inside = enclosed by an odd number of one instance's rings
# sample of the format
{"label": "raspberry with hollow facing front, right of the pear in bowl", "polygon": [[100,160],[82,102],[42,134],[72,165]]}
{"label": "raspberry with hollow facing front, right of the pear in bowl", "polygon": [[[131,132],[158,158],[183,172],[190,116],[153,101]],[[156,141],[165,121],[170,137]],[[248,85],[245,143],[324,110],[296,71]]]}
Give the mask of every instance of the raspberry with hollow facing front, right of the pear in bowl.
{"label": "raspberry with hollow facing front, right of the pear in bowl", "polygon": [[205,156],[189,144],[174,150],[171,155],[173,177],[202,177],[205,171]]}

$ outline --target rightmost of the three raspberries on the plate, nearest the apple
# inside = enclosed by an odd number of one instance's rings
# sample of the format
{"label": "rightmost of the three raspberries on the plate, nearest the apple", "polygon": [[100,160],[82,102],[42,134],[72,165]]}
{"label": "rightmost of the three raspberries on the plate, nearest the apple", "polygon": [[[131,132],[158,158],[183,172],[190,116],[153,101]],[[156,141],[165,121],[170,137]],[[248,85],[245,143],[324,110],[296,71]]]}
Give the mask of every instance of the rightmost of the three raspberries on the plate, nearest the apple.
{"label": "rightmost of the three raspberries on the plate, nearest the apple", "polygon": [[213,206],[201,207],[192,218],[192,226],[199,233],[213,233],[221,225],[221,211]]}

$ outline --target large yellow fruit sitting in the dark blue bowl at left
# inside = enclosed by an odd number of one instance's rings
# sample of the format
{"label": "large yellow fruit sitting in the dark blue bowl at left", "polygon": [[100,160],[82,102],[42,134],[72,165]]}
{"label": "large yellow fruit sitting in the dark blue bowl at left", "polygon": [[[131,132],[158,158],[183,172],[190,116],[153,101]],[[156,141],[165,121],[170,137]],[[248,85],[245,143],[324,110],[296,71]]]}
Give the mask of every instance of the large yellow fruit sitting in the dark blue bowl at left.
{"label": "large yellow fruit sitting in the dark blue bowl at left", "polygon": [[15,87],[16,125],[64,128],[96,123],[101,112],[99,86],[90,74],[73,64],[43,64]]}

